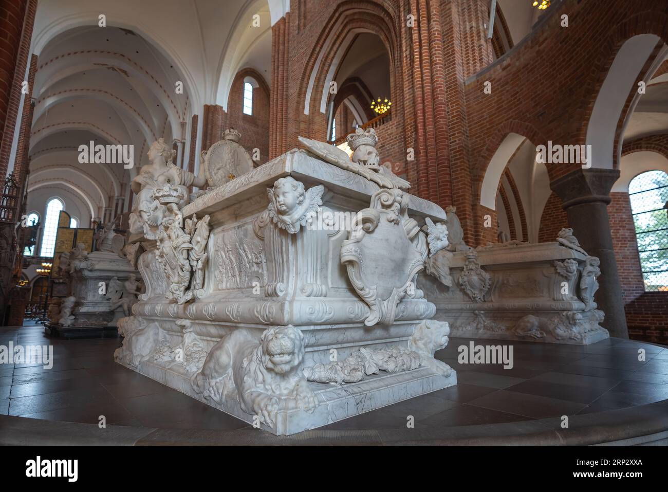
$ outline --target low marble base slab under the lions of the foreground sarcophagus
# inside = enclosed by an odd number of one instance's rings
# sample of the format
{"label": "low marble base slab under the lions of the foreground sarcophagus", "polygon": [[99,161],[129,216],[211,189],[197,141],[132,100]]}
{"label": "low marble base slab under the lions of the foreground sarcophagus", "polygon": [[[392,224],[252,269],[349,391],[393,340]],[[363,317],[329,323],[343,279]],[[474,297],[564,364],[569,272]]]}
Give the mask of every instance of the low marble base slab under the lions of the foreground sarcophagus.
{"label": "low marble base slab under the lions of the foreground sarcophagus", "polygon": [[[180,372],[178,366],[166,369],[151,362],[143,362],[138,370],[131,366],[126,367],[218,408],[218,410],[234,415],[248,424],[254,423],[253,415],[241,410],[236,397],[227,395],[224,404],[218,405],[194,392],[190,378],[187,374]],[[259,428],[275,435],[297,434],[303,430],[331,424],[414,396],[448,388],[454,384],[457,384],[455,371],[452,371],[452,374],[446,378],[425,367],[395,374],[381,372],[381,374],[367,376],[360,382],[341,386],[311,382],[311,389],[319,402],[313,413],[304,410],[281,411],[277,414],[275,428],[264,424],[259,424]]]}

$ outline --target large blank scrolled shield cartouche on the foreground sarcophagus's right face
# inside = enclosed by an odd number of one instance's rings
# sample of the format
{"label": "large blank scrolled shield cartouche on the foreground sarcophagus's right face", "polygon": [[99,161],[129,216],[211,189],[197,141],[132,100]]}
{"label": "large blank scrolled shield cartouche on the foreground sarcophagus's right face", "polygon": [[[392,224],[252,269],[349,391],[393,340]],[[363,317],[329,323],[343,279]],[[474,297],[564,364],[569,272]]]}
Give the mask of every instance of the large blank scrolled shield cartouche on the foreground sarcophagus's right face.
{"label": "large blank scrolled shield cartouche on the foreground sarcophagus's right face", "polygon": [[[422,251],[406,233],[408,195],[381,189],[371,197],[371,207],[357,214],[359,229],[349,232],[341,244],[341,264],[355,291],[369,305],[366,326],[391,325],[397,304],[415,289],[413,277],[424,268]],[[414,233],[419,229],[414,228]],[[392,251],[391,255],[382,254]]]}

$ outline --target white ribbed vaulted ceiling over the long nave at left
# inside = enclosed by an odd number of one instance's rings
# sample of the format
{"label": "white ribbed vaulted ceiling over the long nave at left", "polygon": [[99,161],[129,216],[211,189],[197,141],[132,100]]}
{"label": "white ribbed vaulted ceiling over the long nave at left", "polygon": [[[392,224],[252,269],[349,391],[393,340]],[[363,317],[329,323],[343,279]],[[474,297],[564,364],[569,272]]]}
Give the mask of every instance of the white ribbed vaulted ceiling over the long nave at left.
{"label": "white ribbed vaulted ceiling over the long nave at left", "polygon": [[[127,183],[148,162],[151,142],[187,140],[204,104],[226,106],[238,70],[251,67],[271,81],[271,24],[289,3],[272,0],[271,16],[269,3],[40,1],[31,46],[38,70],[29,201],[62,195],[77,213],[84,210],[79,218],[94,219],[125,195],[127,209]],[[106,27],[98,25],[100,15]],[[133,145],[135,168],[79,163],[77,148],[91,140]],[[189,146],[184,152],[189,158]]]}

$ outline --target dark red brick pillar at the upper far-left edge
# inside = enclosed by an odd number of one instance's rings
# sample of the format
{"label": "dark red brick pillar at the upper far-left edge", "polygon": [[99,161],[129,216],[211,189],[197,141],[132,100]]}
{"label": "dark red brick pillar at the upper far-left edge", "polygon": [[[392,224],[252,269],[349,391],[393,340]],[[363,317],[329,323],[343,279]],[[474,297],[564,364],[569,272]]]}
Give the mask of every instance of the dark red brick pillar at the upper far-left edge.
{"label": "dark red brick pillar at the upper far-left edge", "polygon": [[0,177],[3,180],[7,175],[36,9],[37,0],[3,0],[0,4]]}

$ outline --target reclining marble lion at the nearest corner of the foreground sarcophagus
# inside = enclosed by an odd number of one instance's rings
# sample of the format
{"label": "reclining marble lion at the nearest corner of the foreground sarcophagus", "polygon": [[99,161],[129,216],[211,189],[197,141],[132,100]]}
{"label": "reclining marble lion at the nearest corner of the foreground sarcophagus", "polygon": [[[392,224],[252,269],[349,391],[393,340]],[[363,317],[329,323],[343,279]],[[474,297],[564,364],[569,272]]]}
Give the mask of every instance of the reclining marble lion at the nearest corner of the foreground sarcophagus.
{"label": "reclining marble lion at the nearest corner of the foreground sarcophagus", "polygon": [[303,334],[294,326],[269,328],[260,340],[252,330],[234,330],[211,349],[194,390],[222,404],[236,389],[241,409],[274,426],[279,410],[313,412],[317,398],[302,373]]}

